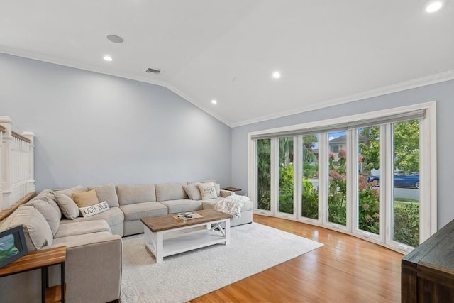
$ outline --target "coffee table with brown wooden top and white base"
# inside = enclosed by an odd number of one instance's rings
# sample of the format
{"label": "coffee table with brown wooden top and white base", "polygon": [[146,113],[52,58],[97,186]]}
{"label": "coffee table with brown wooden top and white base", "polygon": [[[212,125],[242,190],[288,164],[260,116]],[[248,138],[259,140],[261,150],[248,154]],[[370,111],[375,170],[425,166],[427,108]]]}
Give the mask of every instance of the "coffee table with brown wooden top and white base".
{"label": "coffee table with brown wooden top and white base", "polygon": [[[156,263],[164,257],[218,243],[230,244],[231,215],[214,209],[194,211],[201,218],[177,221],[175,215],[155,216],[141,219],[144,225],[145,246],[155,255]],[[206,226],[201,229],[199,226]],[[187,230],[187,231],[184,231]],[[166,233],[182,231],[177,236],[166,238]]]}

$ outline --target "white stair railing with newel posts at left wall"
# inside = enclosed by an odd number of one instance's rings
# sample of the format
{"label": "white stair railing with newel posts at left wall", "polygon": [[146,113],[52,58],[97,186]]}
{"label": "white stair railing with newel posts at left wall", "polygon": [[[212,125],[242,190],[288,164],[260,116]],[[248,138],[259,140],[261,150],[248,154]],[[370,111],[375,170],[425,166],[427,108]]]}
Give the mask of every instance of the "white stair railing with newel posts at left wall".
{"label": "white stair railing with newel posts at left wall", "polygon": [[16,133],[12,124],[0,116],[0,211],[35,192],[34,135]]}

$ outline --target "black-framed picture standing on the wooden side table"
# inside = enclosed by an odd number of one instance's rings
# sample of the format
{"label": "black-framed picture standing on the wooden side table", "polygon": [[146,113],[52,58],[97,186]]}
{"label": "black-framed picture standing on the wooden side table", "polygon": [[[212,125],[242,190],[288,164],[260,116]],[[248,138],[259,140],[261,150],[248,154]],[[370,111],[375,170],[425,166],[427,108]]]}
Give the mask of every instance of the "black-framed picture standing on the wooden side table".
{"label": "black-framed picture standing on the wooden side table", "polygon": [[0,233],[0,268],[28,253],[22,226]]}

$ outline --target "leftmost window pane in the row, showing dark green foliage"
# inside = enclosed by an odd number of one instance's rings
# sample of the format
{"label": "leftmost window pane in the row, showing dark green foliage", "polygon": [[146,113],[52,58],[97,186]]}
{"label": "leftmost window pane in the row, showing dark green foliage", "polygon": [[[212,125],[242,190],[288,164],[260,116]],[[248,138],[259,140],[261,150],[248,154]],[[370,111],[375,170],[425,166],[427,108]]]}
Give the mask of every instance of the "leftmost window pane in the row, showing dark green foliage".
{"label": "leftmost window pane in the row, showing dark green foliage", "polygon": [[257,141],[257,208],[271,209],[271,140]]}

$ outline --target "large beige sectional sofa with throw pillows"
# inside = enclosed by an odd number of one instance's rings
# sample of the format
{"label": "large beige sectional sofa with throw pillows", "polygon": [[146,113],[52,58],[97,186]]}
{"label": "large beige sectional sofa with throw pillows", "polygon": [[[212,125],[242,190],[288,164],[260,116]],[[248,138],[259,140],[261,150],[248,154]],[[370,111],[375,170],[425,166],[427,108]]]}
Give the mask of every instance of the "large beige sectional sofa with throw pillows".
{"label": "large beige sectional sofa with throw pillows", "polygon": [[[206,187],[209,194],[200,190]],[[67,246],[67,302],[118,302],[122,236],[143,233],[142,218],[213,209],[231,194],[215,182],[45,189],[1,221],[0,231],[23,225],[29,251]],[[252,221],[253,203],[240,212],[231,226]],[[50,268],[49,285],[59,277],[60,267]],[[0,294],[1,302],[40,302],[40,272],[1,278]]]}

